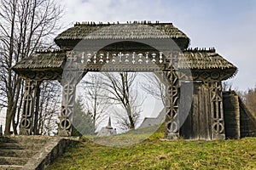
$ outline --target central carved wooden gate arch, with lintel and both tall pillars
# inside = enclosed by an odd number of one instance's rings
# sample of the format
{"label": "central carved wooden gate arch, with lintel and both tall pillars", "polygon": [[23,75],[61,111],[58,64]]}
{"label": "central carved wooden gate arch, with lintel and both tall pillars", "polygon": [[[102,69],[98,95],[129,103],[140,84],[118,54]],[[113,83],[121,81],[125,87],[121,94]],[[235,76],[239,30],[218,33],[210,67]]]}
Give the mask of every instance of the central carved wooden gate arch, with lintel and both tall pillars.
{"label": "central carved wooden gate arch, with lintel and both tall pillars", "polygon": [[[92,47],[92,44],[97,44]],[[101,47],[102,46],[102,47]],[[61,122],[71,124],[75,87],[88,71],[153,71],[161,75],[166,85],[166,131],[168,139],[178,139],[178,129],[184,122],[189,109],[183,109],[178,116],[178,100],[181,82],[191,80],[191,72],[184,69],[177,73],[178,65],[187,65],[181,50],[172,39],[153,41],[152,39],[90,40],[81,41],[72,51],[67,52],[63,71]],[[183,63],[181,63],[183,62]],[[190,94],[192,95],[192,88]],[[188,100],[188,102],[191,102]],[[190,105],[188,105],[190,108]],[[65,124],[65,123],[63,123]],[[60,127],[63,136],[71,135],[72,128]]]}

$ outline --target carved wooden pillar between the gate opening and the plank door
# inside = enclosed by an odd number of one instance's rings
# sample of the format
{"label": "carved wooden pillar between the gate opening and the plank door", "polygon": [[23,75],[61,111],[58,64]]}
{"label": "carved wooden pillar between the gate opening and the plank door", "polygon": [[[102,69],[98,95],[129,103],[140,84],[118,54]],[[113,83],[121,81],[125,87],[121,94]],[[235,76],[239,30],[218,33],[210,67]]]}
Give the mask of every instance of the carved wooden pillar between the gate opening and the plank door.
{"label": "carved wooden pillar between the gate opening and the plank door", "polygon": [[175,58],[169,58],[166,61],[167,68],[164,71],[166,77],[166,139],[179,138],[179,122],[178,122],[178,98],[179,98],[179,81],[177,71],[173,67]]}

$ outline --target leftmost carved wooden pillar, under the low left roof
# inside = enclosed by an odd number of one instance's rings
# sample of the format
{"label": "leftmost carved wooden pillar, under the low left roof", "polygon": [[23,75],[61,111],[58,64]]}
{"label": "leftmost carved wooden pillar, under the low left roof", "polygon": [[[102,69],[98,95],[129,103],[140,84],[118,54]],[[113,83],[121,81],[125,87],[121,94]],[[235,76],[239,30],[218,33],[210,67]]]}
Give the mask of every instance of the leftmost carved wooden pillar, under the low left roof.
{"label": "leftmost carved wooden pillar, under the low left roof", "polygon": [[[40,81],[26,80],[25,94],[23,111],[20,119],[20,134],[30,135],[34,128],[34,117],[37,117],[38,109],[36,106],[37,100],[39,98],[39,86]],[[36,120],[37,121],[37,120]],[[36,128],[36,127],[35,127]]]}

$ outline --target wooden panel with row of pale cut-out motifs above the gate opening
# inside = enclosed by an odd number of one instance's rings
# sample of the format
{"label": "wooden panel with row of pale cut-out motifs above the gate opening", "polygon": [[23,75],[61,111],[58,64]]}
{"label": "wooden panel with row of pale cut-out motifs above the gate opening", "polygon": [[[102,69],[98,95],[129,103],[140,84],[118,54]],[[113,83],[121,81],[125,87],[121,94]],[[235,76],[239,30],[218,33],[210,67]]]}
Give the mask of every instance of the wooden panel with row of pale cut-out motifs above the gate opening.
{"label": "wooden panel with row of pale cut-out motifs above the gate opening", "polygon": [[[75,62],[85,71],[161,71],[162,52],[73,52]],[[86,58],[86,59],[84,59]],[[86,62],[84,62],[86,60]],[[108,65],[108,66],[106,66]]]}

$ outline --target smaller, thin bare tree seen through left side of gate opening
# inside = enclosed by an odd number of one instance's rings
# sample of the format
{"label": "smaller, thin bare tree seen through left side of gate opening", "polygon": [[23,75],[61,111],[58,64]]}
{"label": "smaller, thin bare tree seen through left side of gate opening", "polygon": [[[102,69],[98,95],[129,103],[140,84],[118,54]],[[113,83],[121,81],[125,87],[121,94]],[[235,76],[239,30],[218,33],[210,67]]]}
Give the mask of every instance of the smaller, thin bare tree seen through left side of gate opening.
{"label": "smaller, thin bare tree seen through left side of gate opening", "polygon": [[95,130],[98,125],[106,118],[110,103],[106,99],[106,90],[102,88],[101,73],[87,73],[86,79],[81,84],[84,89],[84,110],[87,111],[93,119]]}

